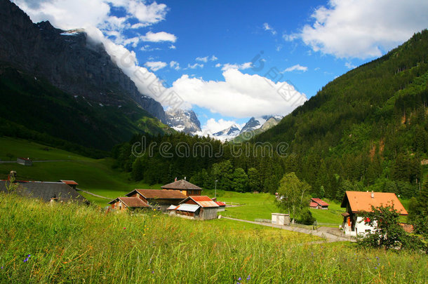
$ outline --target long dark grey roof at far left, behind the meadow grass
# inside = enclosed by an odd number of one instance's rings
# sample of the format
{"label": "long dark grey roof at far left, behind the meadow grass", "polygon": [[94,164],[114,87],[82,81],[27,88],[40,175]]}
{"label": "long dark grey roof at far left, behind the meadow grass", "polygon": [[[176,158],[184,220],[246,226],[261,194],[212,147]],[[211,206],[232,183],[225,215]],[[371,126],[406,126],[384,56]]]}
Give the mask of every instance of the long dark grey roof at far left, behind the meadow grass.
{"label": "long dark grey roof at far left, behind the meadow grass", "polygon": [[[62,201],[80,201],[88,203],[86,198],[77,193],[75,189],[69,187],[64,182],[28,182],[17,181],[19,184],[16,193],[21,196],[41,198],[43,201],[51,201],[51,198],[58,198]],[[6,191],[6,180],[0,180],[0,191]]]}

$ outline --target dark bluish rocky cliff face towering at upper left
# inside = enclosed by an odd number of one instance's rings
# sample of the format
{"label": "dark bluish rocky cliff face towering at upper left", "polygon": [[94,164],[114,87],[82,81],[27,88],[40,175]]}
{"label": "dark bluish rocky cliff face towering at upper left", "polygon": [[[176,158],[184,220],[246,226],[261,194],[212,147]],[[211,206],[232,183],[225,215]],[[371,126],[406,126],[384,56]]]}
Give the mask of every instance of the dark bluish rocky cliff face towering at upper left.
{"label": "dark bluish rocky cliff face towering at upper left", "polygon": [[92,45],[82,30],[65,32],[50,22],[33,24],[8,0],[0,0],[0,63],[43,76],[53,86],[95,103],[119,106],[133,100],[166,123],[161,104],[138,92],[102,44]]}

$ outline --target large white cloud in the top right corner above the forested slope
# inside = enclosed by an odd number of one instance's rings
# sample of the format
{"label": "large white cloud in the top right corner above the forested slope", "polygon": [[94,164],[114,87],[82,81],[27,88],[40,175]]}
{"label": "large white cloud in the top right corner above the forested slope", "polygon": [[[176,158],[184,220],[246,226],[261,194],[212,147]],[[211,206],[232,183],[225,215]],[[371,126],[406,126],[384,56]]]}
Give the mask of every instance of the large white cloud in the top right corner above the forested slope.
{"label": "large white cloud in the top right corner above the forested slope", "polygon": [[297,34],[314,51],[337,58],[374,58],[428,27],[428,1],[330,0]]}

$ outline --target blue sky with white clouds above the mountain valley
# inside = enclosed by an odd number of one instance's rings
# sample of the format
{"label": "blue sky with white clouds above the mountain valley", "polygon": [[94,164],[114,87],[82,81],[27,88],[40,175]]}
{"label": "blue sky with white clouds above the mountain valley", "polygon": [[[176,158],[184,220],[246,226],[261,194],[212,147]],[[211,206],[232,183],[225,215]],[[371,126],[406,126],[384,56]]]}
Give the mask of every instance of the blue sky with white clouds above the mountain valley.
{"label": "blue sky with white clouds above the mountain valley", "polygon": [[428,27],[428,2],[419,0],[15,3],[34,22],[87,29],[113,59],[133,56],[132,68],[122,68],[142,93],[177,107],[135,78],[138,70],[164,81],[206,133],[251,116],[288,114],[337,76]]}

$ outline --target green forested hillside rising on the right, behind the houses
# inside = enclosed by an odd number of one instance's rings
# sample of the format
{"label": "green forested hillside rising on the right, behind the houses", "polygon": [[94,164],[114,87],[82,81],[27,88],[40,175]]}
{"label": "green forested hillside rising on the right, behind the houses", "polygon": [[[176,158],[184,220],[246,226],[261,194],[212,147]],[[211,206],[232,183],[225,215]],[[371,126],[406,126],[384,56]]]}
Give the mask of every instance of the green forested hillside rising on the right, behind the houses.
{"label": "green forested hillside rising on the right, behind the houses", "polygon": [[[248,143],[147,137],[153,155],[146,151],[136,158],[131,145],[141,137],[134,137],[116,147],[114,157],[135,180],[149,183],[186,176],[206,188],[218,180],[221,189],[275,192],[284,173],[295,172],[312,186],[312,196],[340,200],[345,190],[372,189],[417,196],[428,146],[427,50],[424,30],[328,83],[278,126]],[[195,155],[195,144],[203,143],[220,155]],[[160,154],[162,144],[170,144],[169,156]],[[188,154],[177,153],[185,149],[182,144],[188,145]]]}

